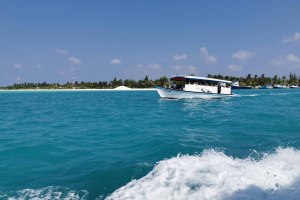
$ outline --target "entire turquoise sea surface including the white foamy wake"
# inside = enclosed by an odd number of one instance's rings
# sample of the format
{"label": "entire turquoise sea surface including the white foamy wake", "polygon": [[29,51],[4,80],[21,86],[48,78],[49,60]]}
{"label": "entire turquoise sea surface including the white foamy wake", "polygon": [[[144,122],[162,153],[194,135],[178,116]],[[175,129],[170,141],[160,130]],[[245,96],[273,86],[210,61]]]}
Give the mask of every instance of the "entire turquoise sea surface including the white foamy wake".
{"label": "entire turquoise sea surface including the white foamy wake", "polygon": [[299,199],[300,89],[0,91],[0,199]]}

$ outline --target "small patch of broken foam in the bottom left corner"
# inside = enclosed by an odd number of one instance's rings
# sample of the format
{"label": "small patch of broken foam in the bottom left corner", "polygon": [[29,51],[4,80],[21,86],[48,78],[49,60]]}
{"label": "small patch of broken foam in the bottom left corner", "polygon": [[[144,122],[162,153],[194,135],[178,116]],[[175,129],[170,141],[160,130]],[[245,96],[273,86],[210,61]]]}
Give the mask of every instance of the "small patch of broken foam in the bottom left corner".
{"label": "small patch of broken foam in the bottom left corner", "polygon": [[63,187],[48,186],[41,189],[23,189],[20,191],[0,192],[0,199],[87,199],[88,192],[86,190],[70,190]]}

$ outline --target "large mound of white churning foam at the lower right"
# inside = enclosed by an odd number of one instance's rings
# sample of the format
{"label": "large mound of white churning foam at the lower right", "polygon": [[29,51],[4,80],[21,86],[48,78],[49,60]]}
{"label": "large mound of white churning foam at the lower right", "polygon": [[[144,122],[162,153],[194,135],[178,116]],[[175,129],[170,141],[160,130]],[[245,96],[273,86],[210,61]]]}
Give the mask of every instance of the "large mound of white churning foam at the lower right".
{"label": "large mound of white churning foam at the lower right", "polygon": [[279,148],[260,160],[215,150],[160,161],[106,199],[299,199],[300,151]]}

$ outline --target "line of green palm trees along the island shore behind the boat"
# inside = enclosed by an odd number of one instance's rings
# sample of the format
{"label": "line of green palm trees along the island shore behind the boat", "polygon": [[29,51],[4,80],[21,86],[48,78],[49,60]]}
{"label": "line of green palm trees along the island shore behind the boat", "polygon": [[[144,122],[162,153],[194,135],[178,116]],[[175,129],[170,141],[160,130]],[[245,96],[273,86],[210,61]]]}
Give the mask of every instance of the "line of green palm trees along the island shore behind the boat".
{"label": "line of green palm trees along the island shore behind the boat", "polygon": [[[300,77],[297,78],[296,74],[289,74],[289,77],[282,76],[279,77],[275,75],[274,77],[266,77],[265,74],[261,76],[248,74],[246,77],[233,77],[233,76],[223,76],[223,75],[211,75],[208,74],[209,78],[224,79],[230,81],[239,81],[240,86],[260,86],[260,85],[299,85]],[[129,88],[151,88],[155,85],[157,86],[166,86],[169,84],[169,79],[166,76],[163,76],[159,79],[149,79],[148,76],[145,76],[143,80],[132,80],[132,79],[117,79],[114,78],[112,81],[99,81],[99,82],[77,82],[74,83],[67,82],[65,84],[59,83],[20,83],[14,84],[11,86],[1,87],[1,89],[112,89],[118,86],[126,86]]]}

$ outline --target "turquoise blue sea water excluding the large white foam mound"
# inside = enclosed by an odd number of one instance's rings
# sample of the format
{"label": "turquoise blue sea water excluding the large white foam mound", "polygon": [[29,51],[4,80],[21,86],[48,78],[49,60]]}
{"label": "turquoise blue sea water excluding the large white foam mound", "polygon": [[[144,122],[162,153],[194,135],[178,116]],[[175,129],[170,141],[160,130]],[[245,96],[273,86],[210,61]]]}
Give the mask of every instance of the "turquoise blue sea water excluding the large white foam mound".
{"label": "turquoise blue sea water excluding the large white foam mound", "polygon": [[164,100],[155,91],[1,91],[0,198],[105,198],[178,154],[299,150],[300,89],[234,92]]}

